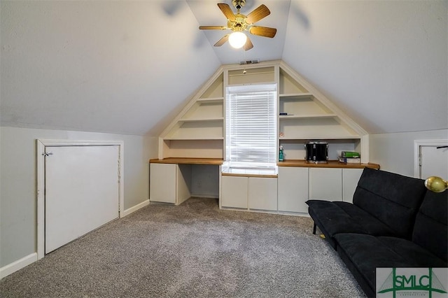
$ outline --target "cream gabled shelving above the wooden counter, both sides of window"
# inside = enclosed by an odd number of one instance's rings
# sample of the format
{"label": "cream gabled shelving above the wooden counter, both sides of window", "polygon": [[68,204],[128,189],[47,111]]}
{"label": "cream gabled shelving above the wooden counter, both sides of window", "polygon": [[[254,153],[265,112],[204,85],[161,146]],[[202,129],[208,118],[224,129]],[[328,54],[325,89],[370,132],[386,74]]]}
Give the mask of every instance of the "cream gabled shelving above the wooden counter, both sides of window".
{"label": "cream gabled shelving above the wooden counter, both sides of window", "polygon": [[319,140],[328,141],[330,159],[356,150],[368,162],[367,132],[282,61],[221,66],[160,135],[159,159],[225,157],[225,87],[260,83],[278,84],[286,159],[304,159],[304,144]]}

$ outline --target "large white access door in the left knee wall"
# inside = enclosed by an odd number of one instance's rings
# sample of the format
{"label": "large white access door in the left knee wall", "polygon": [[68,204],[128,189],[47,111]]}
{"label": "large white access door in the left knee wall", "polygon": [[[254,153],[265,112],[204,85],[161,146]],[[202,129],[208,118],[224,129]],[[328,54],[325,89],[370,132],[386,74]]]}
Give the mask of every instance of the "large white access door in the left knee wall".
{"label": "large white access door in the left knee wall", "polygon": [[45,146],[45,253],[119,215],[119,146]]}

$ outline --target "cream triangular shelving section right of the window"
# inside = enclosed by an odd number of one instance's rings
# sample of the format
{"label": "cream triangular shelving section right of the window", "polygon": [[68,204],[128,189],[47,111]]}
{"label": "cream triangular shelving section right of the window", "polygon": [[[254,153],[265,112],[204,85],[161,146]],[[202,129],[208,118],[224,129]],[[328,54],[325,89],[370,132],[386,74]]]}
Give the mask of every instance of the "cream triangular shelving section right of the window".
{"label": "cream triangular shelving section right of the window", "polygon": [[368,162],[367,132],[283,62],[279,63],[279,145],[285,159],[305,159],[304,144],[327,141],[329,159],[356,150]]}

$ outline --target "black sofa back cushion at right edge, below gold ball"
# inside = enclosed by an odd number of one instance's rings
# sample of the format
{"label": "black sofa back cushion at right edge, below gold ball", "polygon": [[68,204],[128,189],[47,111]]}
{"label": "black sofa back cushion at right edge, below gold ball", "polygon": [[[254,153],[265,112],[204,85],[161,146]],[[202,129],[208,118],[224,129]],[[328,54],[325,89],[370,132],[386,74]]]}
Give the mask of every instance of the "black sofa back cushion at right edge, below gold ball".
{"label": "black sofa back cushion at right edge, below gold ball", "polygon": [[416,215],[412,241],[447,262],[448,191],[426,192]]}

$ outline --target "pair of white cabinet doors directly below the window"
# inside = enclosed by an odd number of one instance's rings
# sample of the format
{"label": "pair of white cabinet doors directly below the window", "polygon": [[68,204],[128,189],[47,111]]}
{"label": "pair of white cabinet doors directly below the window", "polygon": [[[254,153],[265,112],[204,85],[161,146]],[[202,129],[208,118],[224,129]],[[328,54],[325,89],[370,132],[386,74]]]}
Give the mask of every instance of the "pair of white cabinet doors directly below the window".
{"label": "pair of white cabinet doors directly below the window", "polygon": [[276,211],[277,179],[222,176],[221,206]]}

